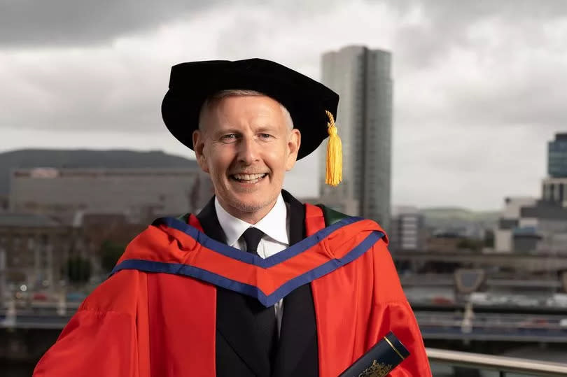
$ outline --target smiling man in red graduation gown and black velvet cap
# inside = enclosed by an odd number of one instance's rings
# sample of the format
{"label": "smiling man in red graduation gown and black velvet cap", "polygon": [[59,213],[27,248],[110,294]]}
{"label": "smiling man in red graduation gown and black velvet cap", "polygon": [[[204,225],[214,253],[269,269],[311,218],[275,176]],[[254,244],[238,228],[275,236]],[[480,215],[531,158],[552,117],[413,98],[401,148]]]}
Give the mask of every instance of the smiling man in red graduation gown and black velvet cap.
{"label": "smiling man in red graduation gown and black velvet cap", "polygon": [[34,375],[335,377],[393,331],[391,376],[430,376],[384,231],[282,190],[337,104],[262,59],[174,66],[162,115],[215,197],[137,236]]}

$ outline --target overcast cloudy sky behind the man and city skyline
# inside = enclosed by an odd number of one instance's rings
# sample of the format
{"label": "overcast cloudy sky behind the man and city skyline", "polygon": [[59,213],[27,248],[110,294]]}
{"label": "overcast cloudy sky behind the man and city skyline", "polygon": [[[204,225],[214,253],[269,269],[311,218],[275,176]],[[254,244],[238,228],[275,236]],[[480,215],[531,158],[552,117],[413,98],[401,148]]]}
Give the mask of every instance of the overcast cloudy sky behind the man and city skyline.
{"label": "overcast cloudy sky behind the man and city skyline", "polygon": [[[0,0],[0,151],[189,157],[160,115],[172,64],[263,57],[319,79],[323,52],[366,45],[393,53],[393,204],[498,209],[539,194],[567,131],[566,41],[566,0]],[[313,196],[315,169],[286,185]]]}

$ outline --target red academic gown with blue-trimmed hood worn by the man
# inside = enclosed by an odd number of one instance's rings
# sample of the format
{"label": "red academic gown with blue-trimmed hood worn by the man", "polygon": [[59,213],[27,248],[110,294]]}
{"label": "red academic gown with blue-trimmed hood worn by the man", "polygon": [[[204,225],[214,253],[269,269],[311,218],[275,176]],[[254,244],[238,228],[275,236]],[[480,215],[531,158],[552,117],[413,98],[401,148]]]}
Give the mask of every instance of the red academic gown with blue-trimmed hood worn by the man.
{"label": "red academic gown with blue-trimmed hood worn by the man", "polygon": [[[265,306],[310,283],[318,375],[336,377],[388,332],[409,350],[389,376],[431,376],[384,231],[305,205],[307,238],[262,259],[165,218],[127,247],[113,276],[78,308],[34,376],[216,376],[217,286]],[[285,307],[284,307],[285,313]]]}

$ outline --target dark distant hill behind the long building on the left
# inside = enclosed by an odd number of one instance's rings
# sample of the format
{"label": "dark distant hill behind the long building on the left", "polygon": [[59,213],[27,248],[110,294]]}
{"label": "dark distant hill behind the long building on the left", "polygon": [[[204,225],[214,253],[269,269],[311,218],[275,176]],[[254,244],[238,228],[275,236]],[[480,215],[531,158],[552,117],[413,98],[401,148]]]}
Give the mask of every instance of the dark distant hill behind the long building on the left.
{"label": "dark distant hill behind the long building on the left", "polygon": [[9,173],[15,168],[182,168],[196,165],[193,159],[158,150],[13,150],[0,153],[0,196],[8,195]]}

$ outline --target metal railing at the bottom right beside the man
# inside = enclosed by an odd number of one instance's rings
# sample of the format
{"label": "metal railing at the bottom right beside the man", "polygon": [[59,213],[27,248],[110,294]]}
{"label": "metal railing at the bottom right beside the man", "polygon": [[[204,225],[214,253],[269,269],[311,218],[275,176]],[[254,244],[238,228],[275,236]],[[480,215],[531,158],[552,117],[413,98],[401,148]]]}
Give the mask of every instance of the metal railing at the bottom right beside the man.
{"label": "metal railing at the bottom right beside the man", "polygon": [[[444,364],[450,367],[498,371],[500,376],[508,376],[509,374],[567,376],[567,364],[519,359],[516,357],[484,355],[481,353],[440,350],[437,348],[427,348],[426,351],[430,363]],[[565,359],[567,362],[567,352]]]}

